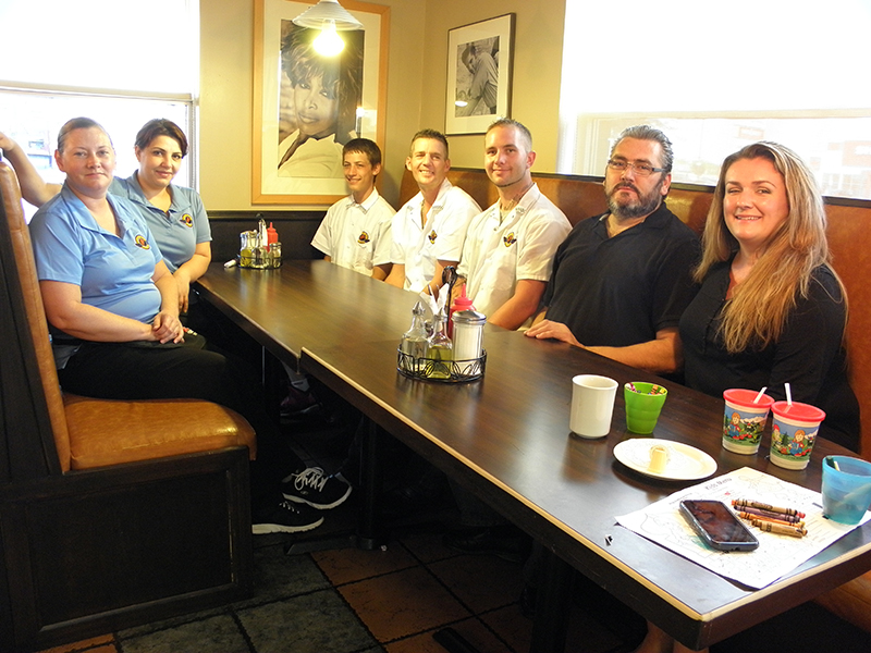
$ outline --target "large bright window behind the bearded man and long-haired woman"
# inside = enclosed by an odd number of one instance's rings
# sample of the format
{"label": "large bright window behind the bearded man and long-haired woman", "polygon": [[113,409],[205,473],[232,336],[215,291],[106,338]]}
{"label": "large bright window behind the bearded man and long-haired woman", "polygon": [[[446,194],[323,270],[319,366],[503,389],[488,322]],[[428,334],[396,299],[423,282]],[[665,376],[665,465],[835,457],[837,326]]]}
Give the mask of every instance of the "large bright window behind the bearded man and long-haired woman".
{"label": "large bright window behind the bearded man and long-haired woman", "polygon": [[714,185],[726,156],[775,140],[824,195],[871,199],[869,30],[869,0],[566,0],[557,171],[601,176],[647,123],[674,144],[675,182]]}

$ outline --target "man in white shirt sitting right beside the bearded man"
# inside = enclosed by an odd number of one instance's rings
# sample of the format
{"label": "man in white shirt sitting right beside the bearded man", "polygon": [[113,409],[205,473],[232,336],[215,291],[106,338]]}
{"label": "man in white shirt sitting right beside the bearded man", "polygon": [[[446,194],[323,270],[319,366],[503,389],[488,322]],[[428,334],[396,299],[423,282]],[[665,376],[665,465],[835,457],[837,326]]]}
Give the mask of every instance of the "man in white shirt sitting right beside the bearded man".
{"label": "man in white shirt sitting right beside the bearded man", "polygon": [[484,170],[499,200],[469,224],[457,270],[475,308],[505,329],[531,321],[551,275],[553,255],[572,230],[565,214],[532,182],[535,161],[526,126],[511,119],[490,125]]}

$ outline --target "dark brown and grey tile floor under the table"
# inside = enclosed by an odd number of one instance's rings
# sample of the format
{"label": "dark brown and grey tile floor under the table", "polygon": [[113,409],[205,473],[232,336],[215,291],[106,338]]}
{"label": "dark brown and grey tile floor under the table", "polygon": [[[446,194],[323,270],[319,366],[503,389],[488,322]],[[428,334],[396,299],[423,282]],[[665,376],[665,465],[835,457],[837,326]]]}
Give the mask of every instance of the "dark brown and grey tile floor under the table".
{"label": "dark brown and grey tile floor under the table", "polygon": [[[334,434],[294,433],[300,454],[327,469],[347,451],[347,442]],[[456,517],[450,507],[417,516],[414,523],[406,520],[382,550],[285,554],[289,542],[347,532],[356,498],[352,494],[305,537],[255,537],[250,599],[50,653],[444,653],[433,634],[446,627],[481,653],[529,650],[532,621],[517,602],[522,565],[446,549],[442,534]],[[789,625],[786,630],[783,624]],[[801,637],[784,639],[784,632],[798,631]],[[623,653],[642,632],[643,621],[634,613],[602,590],[576,582],[566,651]],[[712,653],[757,651],[871,651],[871,634],[806,604],[712,648]]]}

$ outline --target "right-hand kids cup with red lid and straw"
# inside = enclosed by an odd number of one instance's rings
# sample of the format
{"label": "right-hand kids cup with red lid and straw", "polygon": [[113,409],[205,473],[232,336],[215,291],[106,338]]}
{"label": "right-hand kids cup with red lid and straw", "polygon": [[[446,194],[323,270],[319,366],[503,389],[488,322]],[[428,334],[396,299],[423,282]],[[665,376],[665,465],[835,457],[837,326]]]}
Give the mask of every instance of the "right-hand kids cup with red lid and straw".
{"label": "right-hand kids cup with red lid and straw", "polygon": [[799,402],[774,402],[771,412],[771,461],[785,469],[805,469],[825,412]]}

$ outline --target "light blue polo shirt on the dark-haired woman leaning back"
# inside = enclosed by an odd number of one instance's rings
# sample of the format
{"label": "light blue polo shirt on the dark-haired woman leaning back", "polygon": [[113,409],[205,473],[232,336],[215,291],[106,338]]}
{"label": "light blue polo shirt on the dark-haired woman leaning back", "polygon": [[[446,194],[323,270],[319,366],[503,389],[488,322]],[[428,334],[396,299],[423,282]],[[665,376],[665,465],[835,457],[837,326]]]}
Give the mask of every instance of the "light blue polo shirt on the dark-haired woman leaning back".
{"label": "light blue polo shirt on the dark-haired woman leaning back", "polygon": [[198,244],[211,241],[209,217],[203,199],[193,188],[170,184],[172,205],[165,213],[146,199],[135,172],[125,180],[115,177],[109,193],[136,205],[148,222],[170,272],[189,261]]}

